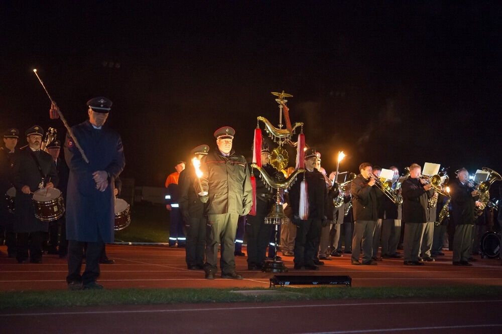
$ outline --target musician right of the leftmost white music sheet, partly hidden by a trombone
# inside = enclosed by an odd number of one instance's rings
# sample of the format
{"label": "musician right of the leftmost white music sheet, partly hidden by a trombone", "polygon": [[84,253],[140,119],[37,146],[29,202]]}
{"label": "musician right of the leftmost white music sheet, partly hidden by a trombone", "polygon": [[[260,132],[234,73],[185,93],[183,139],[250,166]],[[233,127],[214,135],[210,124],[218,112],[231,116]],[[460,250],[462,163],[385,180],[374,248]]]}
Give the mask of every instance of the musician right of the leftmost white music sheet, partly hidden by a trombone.
{"label": "musician right of the leftmost white music sheet, partly hidden by a trombone", "polygon": [[[394,178],[399,179],[399,170],[392,166]],[[395,183],[395,185],[396,185]],[[382,257],[400,259],[398,253],[399,237],[401,235],[402,204],[396,205],[387,196],[383,196],[384,219],[382,220]]]}

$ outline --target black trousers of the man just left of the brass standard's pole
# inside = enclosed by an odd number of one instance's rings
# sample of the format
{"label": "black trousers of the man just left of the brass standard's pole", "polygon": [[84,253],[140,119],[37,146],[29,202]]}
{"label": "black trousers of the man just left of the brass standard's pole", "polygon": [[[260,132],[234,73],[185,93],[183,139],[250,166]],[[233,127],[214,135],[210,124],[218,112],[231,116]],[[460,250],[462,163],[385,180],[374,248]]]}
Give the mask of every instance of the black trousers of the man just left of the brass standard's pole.
{"label": "black trousers of the man just left of the brass standard's pole", "polygon": [[273,225],[265,224],[265,215],[247,215],[247,264],[260,265],[265,261],[267,244],[270,240]]}

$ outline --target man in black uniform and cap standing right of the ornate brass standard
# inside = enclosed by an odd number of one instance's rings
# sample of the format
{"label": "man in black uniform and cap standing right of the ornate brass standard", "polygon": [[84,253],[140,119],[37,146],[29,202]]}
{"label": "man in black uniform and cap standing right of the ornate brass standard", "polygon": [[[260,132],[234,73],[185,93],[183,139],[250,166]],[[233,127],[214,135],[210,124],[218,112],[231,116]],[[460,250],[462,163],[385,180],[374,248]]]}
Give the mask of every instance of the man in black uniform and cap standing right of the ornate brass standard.
{"label": "man in black uniform and cap standing right of the ornate brass standard", "polygon": [[[305,151],[305,173],[289,191],[291,207],[293,209],[293,223],[298,227],[295,239],[295,269],[319,270],[315,265],[317,260],[317,250],[321,235],[322,221],[324,216],[324,204],[326,196],[326,182],[322,174],[315,169],[317,156],[313,148]],[[303,180],[302,180],[303,178]],[[302,182],[305,181],[307,193],[302,194]],[[306,212],[300,210],[302,204],[301,197],[307,196],[308,207]],[[303,216],[301,216],[302,214]]]}

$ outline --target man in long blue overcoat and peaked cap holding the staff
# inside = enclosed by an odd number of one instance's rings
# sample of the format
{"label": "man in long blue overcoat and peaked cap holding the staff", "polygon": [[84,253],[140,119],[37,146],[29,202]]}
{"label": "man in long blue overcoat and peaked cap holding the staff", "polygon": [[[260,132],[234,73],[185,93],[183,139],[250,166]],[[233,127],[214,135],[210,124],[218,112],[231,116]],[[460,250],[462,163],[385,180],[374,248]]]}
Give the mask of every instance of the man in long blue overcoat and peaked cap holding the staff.
{"label": "man in long blue overcoat and peaked cap holding the staff", "polygon": [[[103,288],[96,283],[100,274],[99,257],[104,243],[114,241],[114,180],[122,172],[126,160],[120,135],[104,125],[111,104],[105,97],[87,101],[89,119],[72,127],[88,163],[70,134],[66,135],[64,144],[70,169],[66,201],[66,282],[70,290]],[[55,108],[52,105],[52,109]],[[84,244],[87,244],[85,270],[80,274]]]}

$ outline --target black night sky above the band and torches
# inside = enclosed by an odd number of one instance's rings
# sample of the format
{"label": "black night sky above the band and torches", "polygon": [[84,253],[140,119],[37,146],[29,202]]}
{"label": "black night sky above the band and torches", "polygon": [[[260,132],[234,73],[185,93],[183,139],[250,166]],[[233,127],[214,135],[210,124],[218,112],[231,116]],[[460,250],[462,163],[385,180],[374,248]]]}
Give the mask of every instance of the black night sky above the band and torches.
{"label": "black night sky above the band and torches", "polygon": [[0,17],[2,131],[66,133],[37,68],[71,125],[89,98],[113,101],[123,175],[137,185],[162,186],[223,125],[250,155],[256,117],[277,125],[270,92],[282,90],[328,173],[338,150],[342,171],[370,161],[502,172],[497,2],[6,1]]}

